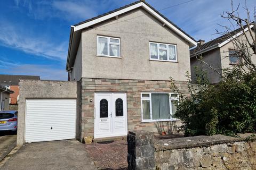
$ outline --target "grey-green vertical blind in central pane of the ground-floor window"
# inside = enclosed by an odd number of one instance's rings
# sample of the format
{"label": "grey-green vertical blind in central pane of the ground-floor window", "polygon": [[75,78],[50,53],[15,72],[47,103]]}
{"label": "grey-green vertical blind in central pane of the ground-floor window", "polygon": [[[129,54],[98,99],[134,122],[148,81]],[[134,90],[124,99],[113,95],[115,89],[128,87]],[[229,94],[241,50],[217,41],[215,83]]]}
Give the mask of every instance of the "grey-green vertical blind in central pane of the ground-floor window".
{"label": "grey-green vertical blind in central pane of the ground-floor window", "polygon": [[153,120],[170,118],[169,94],[151,94]]}

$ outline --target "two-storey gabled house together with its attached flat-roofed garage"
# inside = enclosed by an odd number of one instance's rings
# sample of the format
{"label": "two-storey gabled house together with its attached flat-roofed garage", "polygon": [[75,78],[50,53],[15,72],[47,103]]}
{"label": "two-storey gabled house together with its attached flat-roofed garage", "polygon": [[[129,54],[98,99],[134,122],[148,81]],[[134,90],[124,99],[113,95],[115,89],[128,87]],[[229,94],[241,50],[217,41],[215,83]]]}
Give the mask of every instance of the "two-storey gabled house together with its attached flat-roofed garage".
{"label": "two-storey gabled house together with its attached flat-roofed garage", "polygon": [[189,95],[196,41],[144,1],[71,26],[71,81],[21,80],[17,145],[113,138],[129,130],[175,133],[179,96]]}

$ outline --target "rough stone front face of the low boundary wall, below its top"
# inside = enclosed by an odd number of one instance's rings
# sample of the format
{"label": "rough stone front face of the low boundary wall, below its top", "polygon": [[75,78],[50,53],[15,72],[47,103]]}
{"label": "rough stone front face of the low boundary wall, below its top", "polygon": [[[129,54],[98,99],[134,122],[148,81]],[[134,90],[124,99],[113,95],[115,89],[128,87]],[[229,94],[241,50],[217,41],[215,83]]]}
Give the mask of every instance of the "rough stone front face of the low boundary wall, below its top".
{"label": "rough stone front face of the low boundary wall, below its top", "polygon": [[155,152],[157,169],[256,169],[256,142]]}

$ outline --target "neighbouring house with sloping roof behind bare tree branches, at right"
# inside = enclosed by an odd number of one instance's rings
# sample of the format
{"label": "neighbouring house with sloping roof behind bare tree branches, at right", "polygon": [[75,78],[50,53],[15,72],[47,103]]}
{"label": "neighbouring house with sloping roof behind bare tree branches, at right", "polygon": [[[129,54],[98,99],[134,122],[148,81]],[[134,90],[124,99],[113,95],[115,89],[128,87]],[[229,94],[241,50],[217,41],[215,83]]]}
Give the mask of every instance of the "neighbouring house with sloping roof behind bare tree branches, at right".
{"label": "neighbouring house with sloping roof behind bare tree branches, at right", "polygon": [[[253,28],[253,25],[250,27]],[[247,37],[250,37],[248,30],[249,29],[246,28],[245,33]],[[232,39],[237,39],[239,41],[245,40],[241,28],[215,38],[207,43],[204,43],[204,40],[198,41],[198,46],[190,50],[191,79],[193,82],[196,81],[196,66],[202,66],[203,70],[207,73],[209,82],[215,84],[221,81],[223,69],[239,65],[243,62],[241,57],[237,56],[237,53],[235,52],[236,48]],[[201,61],[198,60],[200,57],[202,57],[202,61],[205,62],[203,62],[202,65]],[[256,63],[255,55],[252,56],[252,62]]]}

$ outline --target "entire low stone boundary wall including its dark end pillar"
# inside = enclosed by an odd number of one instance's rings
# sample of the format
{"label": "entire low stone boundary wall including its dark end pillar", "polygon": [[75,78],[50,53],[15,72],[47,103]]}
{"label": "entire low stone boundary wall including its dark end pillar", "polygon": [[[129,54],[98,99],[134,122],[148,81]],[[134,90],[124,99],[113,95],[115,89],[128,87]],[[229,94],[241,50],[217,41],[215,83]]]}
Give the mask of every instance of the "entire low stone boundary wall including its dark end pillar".
{"label": "entire low stone boundary wall including its dark end pillar", "polygon": [[255,134],[239,136],[155,140],[151,132],[132,131],[127,135],[129,169],[256,169]]}

